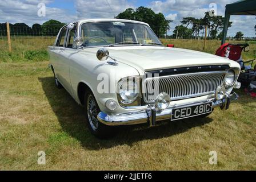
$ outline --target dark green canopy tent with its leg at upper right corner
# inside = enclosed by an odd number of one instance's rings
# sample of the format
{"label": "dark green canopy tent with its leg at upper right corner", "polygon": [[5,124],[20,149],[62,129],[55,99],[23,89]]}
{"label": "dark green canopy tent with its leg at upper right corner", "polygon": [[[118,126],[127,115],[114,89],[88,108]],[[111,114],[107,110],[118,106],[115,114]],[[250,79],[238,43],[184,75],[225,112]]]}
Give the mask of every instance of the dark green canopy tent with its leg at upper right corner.
{"label": "dark green canopy tent with its leg at upper right corner", "polygon": [[241,0],[226,5],[221,44],[224,44],[226,41],[227,26],[231,15],[256,15],[256,0]]}

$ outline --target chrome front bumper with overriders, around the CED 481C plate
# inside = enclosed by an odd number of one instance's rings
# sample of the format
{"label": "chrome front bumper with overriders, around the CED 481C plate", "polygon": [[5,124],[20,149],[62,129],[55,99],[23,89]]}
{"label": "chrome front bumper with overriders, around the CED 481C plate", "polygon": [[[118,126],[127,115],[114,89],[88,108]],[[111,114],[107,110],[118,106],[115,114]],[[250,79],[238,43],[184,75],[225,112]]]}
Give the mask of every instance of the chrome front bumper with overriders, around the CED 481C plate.
{"label": "chrome front bumper with overriders, around the CED 481C plate", "polygon": [[[213,102],[213,108],[219,106],[221,109],[226,110],[229,109],[229,104],[232,100],[238,100],[238,95],[235,92],[231,93],[223,100],[205,100],[201,102],[188,103],[185,105],[178,105],[176,107],[189,107],[193,105],[205,104],[206,102]],[[154,126],[155,121],[171,119],[172,110],[176,107],[168,107],[167,109],[160,112],[155,109],[154,105],[149,105],[148,109],[145,110],[133,111],[117,115],[109,115],[101,111],[97,118],[101,123],[109,126],[136,125],[141,123],[149,123],[150,126]]]}

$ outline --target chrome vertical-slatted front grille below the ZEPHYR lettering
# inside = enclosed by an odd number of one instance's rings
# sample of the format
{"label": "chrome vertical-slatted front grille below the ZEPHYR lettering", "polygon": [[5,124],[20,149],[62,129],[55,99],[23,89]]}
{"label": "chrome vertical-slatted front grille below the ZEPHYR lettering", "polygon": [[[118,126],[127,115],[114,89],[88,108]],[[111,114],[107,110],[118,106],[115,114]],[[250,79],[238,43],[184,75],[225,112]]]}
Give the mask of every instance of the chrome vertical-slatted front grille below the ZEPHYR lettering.
{"label": "chrome vertical-slatted front grille below the ZEPHYR lettering", "polygon": [[168,93],[171,100],[211,94],[221,85],[225,73],[225,71],[212,71],[147,77],[142,84],[143,98],[146,104],[149,104],[154,102],[161,92]]}

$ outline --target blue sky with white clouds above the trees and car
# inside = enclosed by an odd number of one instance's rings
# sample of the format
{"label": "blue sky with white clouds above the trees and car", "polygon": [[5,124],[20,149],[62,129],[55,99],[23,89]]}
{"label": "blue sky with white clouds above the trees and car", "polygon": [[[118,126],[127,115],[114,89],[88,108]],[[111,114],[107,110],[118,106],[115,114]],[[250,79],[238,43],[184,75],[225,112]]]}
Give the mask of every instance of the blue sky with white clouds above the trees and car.
{"label": "blue sky with white clouds above the trees and car", "polygon": [[[34,23],[42,24],[46,20],[57,19],[69,23],[83,18],[114,18],[114,15],[129,7],[136,9],[145,6],[156,13],[163,13],[166,19],[173,20],[168,31],[170,35],[182,17],[202,18],[205,11],[210,9],[210,3],[217,6],[218,15],[223,15],[225,5],[235,1],[237,0],[0,0],[0,22],[24,22],[32,26]],[[46,5],[45,17],[37,15],[38,3]],[[231,21],[233,26],[229,29],[229,36],[234,36],[237,31],[242,31],[245,36],[256,36],[255,16],[232,16]]]}

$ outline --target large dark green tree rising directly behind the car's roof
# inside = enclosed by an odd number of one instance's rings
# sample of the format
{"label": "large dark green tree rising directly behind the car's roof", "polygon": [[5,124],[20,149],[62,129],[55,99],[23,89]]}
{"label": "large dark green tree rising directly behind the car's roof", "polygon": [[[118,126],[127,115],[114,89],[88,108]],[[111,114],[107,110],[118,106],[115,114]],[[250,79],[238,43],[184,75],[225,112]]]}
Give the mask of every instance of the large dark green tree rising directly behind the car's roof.
{"label": "large dark green tree rising directly behind the car's roof", "polygon": [[130,19],[148,23],[158,37],[166,34],[170,30],[169,23],[171,20],[165,19],[162,13],[155,14],[155,12],[147,7],[138,7],[134,9],[126,9],[118,14],[115,18]]}

